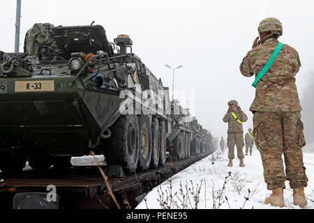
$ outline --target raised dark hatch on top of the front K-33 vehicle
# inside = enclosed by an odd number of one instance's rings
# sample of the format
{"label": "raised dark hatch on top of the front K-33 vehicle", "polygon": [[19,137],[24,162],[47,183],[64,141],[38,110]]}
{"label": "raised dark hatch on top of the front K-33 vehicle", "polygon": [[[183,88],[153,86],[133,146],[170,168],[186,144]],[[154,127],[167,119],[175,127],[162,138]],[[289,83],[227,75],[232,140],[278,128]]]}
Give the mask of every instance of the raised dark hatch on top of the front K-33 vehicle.
{"label": "raised dark hatch on top of the front K-33 vehicle", "polygon": [[108,56],[113,56],[112,45],[107,40],[103,26],[60,26],[54,29],[54,38],[63,57],[70,59],[73,52],[96,54],[102,50]]}

